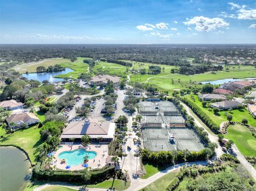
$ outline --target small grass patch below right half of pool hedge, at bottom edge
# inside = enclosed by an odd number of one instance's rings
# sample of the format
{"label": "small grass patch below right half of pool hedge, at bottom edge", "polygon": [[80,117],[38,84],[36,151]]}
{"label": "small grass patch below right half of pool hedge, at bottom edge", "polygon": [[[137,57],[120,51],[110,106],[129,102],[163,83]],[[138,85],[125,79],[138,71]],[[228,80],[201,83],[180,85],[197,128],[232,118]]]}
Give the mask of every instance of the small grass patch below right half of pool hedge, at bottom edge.
{"label": "small grass patch below right half of pool hedge, at bottom edge", "polygon": [[124,180],[105,180],[103,182],[98,183],[97,185],[87,185],[87,187],[91,187],[91,188],[106,188],[106,189],[110,189],[112,187],[112,189],[115,188],[115,190],[125,190],[127,188],[129,188],[130,186],[130,182],[125,182]]}

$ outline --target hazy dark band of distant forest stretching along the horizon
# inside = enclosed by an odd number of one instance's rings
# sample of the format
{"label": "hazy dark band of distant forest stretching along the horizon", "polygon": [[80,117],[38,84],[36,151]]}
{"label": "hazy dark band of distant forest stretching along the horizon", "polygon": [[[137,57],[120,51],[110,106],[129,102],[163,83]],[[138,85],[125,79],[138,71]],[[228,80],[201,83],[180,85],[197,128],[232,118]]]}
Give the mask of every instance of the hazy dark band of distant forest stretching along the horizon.
{"label": "hazy dark band of distant forest stretching along the horizon", "polygon": [[181,65],[188,57],[202,63],[201,57],[238,56],[255,59],[255,45],[1,45],[0,57],[12,62],[34,62],[53,57],[75,60],[132,60],[156,64]]}

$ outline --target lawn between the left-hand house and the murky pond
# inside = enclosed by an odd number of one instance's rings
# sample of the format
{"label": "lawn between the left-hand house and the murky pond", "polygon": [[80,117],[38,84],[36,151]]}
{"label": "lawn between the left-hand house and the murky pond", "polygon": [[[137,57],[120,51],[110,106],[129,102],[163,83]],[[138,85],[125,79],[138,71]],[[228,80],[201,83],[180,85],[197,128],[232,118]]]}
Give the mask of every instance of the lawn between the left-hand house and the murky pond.
{"label": "lawn between the left-hand house and the murky pond", "polygon": [[5,134],[5,130],[0,127],[0,145],[15,145],[23,148],[31,160],[35,163],[35,157],[38,154],[37,147],[42,144],[39,129],[29,127],[27,129],[17,130],[11,134]]}

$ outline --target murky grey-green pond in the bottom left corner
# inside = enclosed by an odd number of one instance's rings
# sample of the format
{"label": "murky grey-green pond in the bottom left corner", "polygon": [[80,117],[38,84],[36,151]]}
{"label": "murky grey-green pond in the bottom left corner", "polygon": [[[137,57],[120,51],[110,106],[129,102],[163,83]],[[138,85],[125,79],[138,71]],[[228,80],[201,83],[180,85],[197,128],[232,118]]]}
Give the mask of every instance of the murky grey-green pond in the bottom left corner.
{"label": "murky grey-green pond in the bottom left corner", "polygon": [[30,176],[25,153],[16,147],[0,147],[0,190],[24,190]]}

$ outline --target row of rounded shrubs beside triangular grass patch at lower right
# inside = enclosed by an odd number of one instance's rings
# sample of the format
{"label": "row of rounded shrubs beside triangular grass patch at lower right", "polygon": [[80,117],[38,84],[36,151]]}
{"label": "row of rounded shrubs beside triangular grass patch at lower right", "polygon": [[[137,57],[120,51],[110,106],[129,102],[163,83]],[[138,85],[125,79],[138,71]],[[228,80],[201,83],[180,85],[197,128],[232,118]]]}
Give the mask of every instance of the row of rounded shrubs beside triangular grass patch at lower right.
{"label": "row of rounded shrubs beside triangular grass patch at lower right", "polygon": [[217,164],[217,165],[208,165],[207,167],[189,167],[181,169],[176,177],[171,181],[171,183],[167,186],[167,191],[172,191],[177,188],[180,184],[180,181],[187,176],[187,177],[196,177],[197,175],[203,175],[205,173],[213,173],[219,172],[226,169],[225,164]]}

